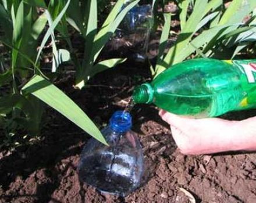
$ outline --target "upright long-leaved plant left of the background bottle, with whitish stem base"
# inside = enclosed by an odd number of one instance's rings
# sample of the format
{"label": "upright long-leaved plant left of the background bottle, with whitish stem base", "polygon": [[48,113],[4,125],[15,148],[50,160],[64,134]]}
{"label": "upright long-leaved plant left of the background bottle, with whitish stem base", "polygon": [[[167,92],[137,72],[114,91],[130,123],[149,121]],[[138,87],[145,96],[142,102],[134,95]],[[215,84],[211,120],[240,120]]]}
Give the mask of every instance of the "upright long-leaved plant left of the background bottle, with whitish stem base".
{"label": "upright long-leaved plant left of the background bottle, with whitish stem base", "polygon": [[[133,6],[135,6],[140,0],[131,2],[129,5],[125,5],[125,0],[119,0],[113,6],[108,17],[106,17],[101,27],[98,26],[98,1],[88,0],[79,1],[74,0],[70,2],[67,13],[62,18],[62,23],[57,27],[57,30],[65,37],[69,50],[71,51],[72,60],[76,67],[76,87],[83,88],[88,79],[95,74],[104,71],[108,68],[114,67],[119,63],[122,63],[125,59],[109,59],[100,61],[97,63],[99,53],[104,48],[106,42],[115,32],[120,22],[125,17]],[[63,1],[55,1],[56,4],[62,7]],[[54,2],[54,3],[55,3]],[[102,2],[101,2],[102,4]],[[54,6],[54,10],[51,13],[58,13],[58,6]],[[79,60],[75,53],[73,46],[70,42],[69,35],[67,33],[66,21],[76,31],[78,31],[81,37],[84,38],[84,55],[83,59]]]}

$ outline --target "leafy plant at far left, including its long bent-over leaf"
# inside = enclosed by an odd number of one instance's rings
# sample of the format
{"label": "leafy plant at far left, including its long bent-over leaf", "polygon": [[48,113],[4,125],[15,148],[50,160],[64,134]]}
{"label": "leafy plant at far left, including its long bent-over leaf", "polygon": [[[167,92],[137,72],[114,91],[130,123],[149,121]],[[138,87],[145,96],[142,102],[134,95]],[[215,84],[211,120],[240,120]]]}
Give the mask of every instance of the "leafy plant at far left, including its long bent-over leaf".
{"label": "leafy plant at far left, including its long bent-over leaf", "polygon": [[[11,86],[11,90],[0,97],[0,117],[5,118],[8,126],[11,126],[8,135],[13,135],[13,132],[20,128],[37,135],[42,126],[44,102],[106,144],[101,132],[87,115],[65,93],[51,84],[40,70],[42,49],[49,37],[54,42],[54,29],[60,23],[69,3],[70,0],[54,21],[51,21],[48,9],[43,14],[38,13],[37,6],[47,8],[42,1],[3,0],[0,3],[0,27],[2,30],[5,28],[3,35],[0,36],[0,42],[10,49],[11,59],[10,68],[0,74],[0,86],[9,83]],[[45,29],[47,20],[49,28],[37,52],[37,40]],[[56,47],[53,49],[56,68],[62,62],[63,50],[57,50]],[[1,61],[3,66],[3,60]],[[26,84],[29,78],[31,79]]]}

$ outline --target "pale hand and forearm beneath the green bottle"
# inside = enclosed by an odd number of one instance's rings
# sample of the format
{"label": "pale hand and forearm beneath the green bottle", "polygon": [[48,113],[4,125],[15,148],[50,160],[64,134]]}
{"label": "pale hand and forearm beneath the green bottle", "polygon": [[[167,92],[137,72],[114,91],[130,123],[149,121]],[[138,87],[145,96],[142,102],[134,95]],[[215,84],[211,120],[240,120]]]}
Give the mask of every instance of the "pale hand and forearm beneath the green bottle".
{"label": "pale hand and forearm beneath the green bottle", "polygon": [[194,119],[159,111],[170,125],[173,139],[183,154],[211,154],[256,149],[256,117],[244,121],[221,118]]}

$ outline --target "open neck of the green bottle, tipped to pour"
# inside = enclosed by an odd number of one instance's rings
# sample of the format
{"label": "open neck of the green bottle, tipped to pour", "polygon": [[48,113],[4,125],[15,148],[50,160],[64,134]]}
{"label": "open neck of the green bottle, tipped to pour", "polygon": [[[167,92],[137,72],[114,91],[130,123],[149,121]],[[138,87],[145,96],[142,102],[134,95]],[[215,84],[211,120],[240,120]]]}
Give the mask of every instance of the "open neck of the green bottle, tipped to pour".
{"label": "open neck of the green bottle, tipped to pour", "polygon": [[132,97],[134,103],[152,103],[154,99],[154,89],[148,83],[142,84],[134,89]]}

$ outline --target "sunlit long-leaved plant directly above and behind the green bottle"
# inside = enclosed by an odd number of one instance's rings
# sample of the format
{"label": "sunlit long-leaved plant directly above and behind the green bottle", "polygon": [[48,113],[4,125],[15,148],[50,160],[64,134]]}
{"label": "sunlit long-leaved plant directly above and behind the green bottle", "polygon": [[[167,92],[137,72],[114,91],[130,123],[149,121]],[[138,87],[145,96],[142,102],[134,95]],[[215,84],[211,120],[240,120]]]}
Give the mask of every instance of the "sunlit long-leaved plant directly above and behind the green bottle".
{"label": "sunlit long-leaved plant directly above and behind the green bottle", "polygon": [[[158,62],[155,68],[151,67],[154,77],[192,54],[194,57],[217,57],[218,53],[222,53],[221,59],[234,57],[249,44],[250,37],[255,33],[256,2],[253,0],[234,0],[227,8],[222,0],[176,2],[180,8],[181,31],[177,35],[175,45],[165,54],[171,15],[164,14],[165,24],[161,35]],[[244,22],[247,16],[250,20]],[[229,54],[223,57],[223,52],[227,50],[225,48],[234,45],[238,45],[237,48],[229,50]]]}

